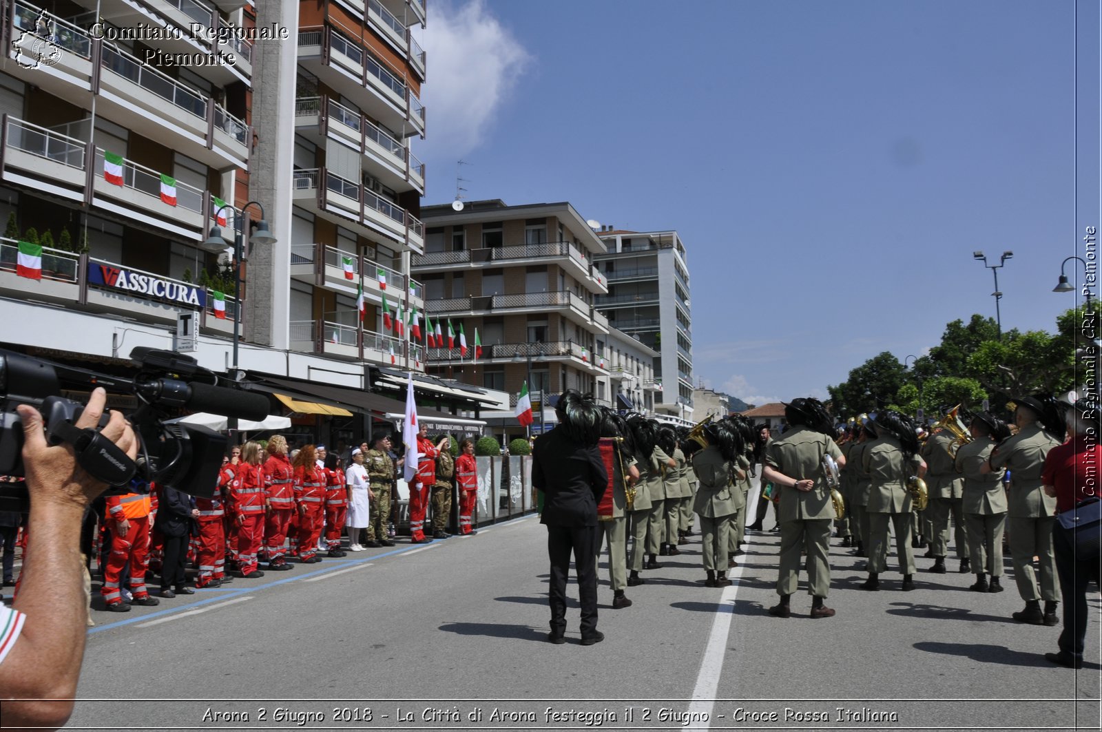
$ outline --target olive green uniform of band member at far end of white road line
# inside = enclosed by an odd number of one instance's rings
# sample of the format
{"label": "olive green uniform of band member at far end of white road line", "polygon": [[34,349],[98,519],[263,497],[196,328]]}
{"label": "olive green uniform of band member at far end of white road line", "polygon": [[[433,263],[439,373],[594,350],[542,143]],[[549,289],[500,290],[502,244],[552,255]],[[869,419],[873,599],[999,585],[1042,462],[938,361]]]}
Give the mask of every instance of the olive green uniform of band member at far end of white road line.
{"label": "olive green uniform of band member at far end of white road line", "polygon": [[735,466],[715,445],[693,454],[692,463],[698,481],[693,510],[700,516],[704,569],[726,572],[732,519],[745,510],[746,498],[733,483]]}

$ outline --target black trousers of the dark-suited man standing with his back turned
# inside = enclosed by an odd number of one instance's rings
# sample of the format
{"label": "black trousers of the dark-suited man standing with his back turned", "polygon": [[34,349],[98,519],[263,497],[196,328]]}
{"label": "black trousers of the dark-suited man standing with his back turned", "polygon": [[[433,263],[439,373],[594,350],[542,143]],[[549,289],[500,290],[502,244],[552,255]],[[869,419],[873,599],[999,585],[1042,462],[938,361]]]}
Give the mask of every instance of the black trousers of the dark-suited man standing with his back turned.
{"label": "black trousers of the dark-suited man standing with his back turned", "polygon": [[570,555],[574,553],[577,594],[582,603],[582,637],[597,629],[597,546],[596,526],[548,526],[548,558],[551,560],[551,629],[566,629],[566,577]]}

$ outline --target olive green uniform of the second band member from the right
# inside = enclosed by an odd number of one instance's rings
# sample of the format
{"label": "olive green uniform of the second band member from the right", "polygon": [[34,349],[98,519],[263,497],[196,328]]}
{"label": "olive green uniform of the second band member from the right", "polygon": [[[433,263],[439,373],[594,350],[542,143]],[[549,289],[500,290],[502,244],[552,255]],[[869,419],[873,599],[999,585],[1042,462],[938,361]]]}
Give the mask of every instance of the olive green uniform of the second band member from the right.
{"label": "olive green uniform of the second band member from the right", "polygon": [[981,473],[995,441],[988,437],[976,438],[957,451],[957,471],[963,474],[964,525],[968,528],[972,571],[993,578],[1003,575],[1003,530],[1006,527],[1006,491],[1000,469]]}

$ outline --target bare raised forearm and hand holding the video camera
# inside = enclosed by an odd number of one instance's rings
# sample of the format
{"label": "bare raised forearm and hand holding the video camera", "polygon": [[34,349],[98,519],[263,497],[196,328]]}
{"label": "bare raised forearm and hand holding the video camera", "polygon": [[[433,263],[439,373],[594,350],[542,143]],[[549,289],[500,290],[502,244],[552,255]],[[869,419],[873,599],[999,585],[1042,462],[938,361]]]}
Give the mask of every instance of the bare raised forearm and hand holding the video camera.
{"label": "bare raised forearm and hand holding the video camera", "polygon": [[[107,395],[91,392],[78,428],[95,427]],[[33,508],[28,517],[26,559],[14,609],[25,613],[23,632],[0,664],[0,689],[6,699],[57,701],[4,701],[6,728],[53,729],[73,713],[80,663],[84,659],[87,600],[78,538],[87,505],[107,486],[93,480],[77,463],[67,444],[48,446],[42,416],[20,406],[23,421],[23,466]],[[130,426],[111,412],[105,437],[133,459],[138,444]]]}

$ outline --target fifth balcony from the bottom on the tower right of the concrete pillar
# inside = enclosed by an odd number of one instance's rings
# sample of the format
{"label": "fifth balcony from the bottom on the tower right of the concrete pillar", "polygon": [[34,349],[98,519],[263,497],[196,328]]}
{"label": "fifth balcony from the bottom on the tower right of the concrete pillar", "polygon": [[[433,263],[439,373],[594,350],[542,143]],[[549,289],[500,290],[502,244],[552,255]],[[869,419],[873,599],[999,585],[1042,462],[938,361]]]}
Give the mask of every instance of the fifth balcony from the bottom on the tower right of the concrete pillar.
{"label": "fifth balcony from the bottom on the tower right of the concrete pillar", "polygon": [[311,74],[355,100],[385,127],[401,130],[403,137],[424,134],[424,108],[402,80],[401,71],[328,25],[301,29],[298,47],[299,62]]}

